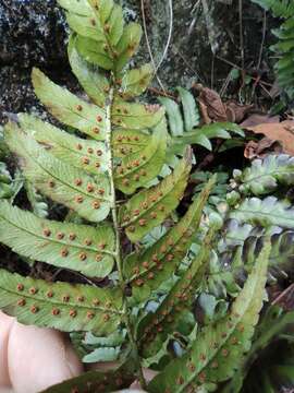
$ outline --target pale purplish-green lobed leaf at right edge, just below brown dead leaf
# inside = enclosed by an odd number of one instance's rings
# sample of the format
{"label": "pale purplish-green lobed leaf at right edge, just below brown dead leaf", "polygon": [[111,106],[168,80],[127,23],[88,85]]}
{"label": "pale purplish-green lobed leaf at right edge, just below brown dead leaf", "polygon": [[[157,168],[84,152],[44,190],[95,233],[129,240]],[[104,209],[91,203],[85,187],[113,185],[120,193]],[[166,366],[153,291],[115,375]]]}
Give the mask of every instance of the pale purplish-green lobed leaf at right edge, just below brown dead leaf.
{"label": "pale purplish-green lobed leaf at right edge, just below brown dead leaf", "polygon": [[244,194],[262,195],[277,190],[278,184],[294,184],[294,158],[281,155],[268,155],[255,159],[243,172],[234,171],[234,180],[241,183],[238,191]]}

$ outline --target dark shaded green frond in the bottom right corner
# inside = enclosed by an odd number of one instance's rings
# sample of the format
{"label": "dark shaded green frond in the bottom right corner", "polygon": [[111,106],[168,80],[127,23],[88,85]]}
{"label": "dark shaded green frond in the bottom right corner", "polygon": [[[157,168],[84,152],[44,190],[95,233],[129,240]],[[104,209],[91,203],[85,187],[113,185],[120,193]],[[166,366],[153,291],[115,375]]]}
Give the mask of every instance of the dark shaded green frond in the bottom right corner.
{"label": "dark shaded green frond in the bottom right corner", "polygon": [[[293,337],[291,332],[293,321],[293,311],[283,312],[277,306],[267,310],[249,353],[232,380],[225,384],[222,393],[238,393],[241,390],[246,393],[259,393],[264,392],[264,389],[277,392],[280,388],[294,384],[291,377],[294,370],[293,348],[290,345],[287,347],[279,345],[282,341],[280,340],[279,343],[279,338],[282,338],[283,333],[289,334],[289,338]],[[254,362],[256,365],[253,367]],[[261,374],[260,370],[262,370]]]}

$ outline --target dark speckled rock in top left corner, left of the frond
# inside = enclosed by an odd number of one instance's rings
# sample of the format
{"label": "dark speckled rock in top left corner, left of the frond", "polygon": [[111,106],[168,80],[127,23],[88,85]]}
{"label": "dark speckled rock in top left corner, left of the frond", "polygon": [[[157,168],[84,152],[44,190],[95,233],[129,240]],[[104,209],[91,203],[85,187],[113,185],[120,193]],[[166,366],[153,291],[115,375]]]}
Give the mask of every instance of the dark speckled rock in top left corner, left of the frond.
{"label": "dark speckled rock in top left corner, left of the frond", "polygon": [[5,114],[34,109],[30,69],[69,73],[66,24],[54,0],[0,2],[0,122]]}

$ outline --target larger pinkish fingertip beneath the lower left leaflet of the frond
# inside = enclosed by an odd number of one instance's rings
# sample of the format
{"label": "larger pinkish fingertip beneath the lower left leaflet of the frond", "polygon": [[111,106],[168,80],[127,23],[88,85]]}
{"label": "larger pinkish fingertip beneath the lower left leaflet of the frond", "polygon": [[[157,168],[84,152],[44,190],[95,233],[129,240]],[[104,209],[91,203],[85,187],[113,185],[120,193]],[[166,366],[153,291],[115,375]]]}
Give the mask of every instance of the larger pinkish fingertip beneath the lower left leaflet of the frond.
{"label": "larger pinkish fingertip beneath the lower left leaflet of the frond", "polygon": [[17,322],[10,332],[8,364],[15,393],[39,392],[83,372],[64,335]]}

